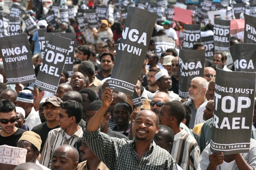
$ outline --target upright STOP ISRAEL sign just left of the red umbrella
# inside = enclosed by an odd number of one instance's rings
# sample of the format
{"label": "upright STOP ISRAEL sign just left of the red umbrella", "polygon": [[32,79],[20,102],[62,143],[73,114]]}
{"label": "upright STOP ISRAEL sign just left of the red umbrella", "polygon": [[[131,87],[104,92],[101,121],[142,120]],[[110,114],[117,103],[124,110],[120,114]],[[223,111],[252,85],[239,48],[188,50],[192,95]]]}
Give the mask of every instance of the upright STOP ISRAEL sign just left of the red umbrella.
{"label": "upright STOP ISRAEL sign just left of the red umbrella", "polygon": [[228,51],[230,41],[230,21],[214,18],[214,47],[216,51]]}

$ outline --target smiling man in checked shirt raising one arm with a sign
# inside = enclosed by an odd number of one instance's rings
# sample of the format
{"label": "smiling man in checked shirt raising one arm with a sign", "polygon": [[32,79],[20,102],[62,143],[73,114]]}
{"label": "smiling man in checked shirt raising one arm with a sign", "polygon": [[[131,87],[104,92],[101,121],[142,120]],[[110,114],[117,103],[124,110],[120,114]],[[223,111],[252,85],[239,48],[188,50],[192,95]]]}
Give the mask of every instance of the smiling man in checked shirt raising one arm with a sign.
{"label": "smiling man in checked shirt raising one arm with a sign", "polygon": [[[102,94],[102,107],[84,128],[84,140],[94,154],[113,170],[176,170],[170,154],[152,141],[158,133],[159,119],[151,110],[140,111],[135,118],[132,141],[109,137],[100,132],[100,122],[113,101],[112,90],[105,88]],[[125,159],[124,159],[125,158]]]}

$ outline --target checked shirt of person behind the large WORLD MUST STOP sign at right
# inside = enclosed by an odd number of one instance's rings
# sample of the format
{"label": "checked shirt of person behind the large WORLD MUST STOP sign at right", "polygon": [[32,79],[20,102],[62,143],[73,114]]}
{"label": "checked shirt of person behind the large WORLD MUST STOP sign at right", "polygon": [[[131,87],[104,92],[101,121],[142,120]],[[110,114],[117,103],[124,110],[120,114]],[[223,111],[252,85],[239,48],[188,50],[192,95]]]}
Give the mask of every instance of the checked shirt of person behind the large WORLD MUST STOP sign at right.
{"label": "checked shirt of person behind the large WORLD MUST STOP sign at right", "polygon": [[[206,146],[204,151],[202,152],[198,169],[197,170],[206,170],[208,165],[210,164],[209,155],[212,154],[210,150],[210,144]],[[248,163],[250,167],[254,170],[256,169],[256,141],[251,139],[250,141],[250,149],[248,153],[241,153],[244,160]],[[220,170],[220,165],[217,166],[216,170]],[[236,162],[234,163],[232,170],[238,170]]]}

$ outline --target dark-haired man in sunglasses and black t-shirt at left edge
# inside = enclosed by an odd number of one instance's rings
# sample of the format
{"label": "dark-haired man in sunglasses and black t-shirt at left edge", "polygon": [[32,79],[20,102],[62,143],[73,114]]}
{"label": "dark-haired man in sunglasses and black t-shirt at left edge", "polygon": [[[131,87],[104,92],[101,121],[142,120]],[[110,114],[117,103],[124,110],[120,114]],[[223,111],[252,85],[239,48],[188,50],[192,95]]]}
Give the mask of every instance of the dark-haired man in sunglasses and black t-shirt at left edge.
{"label": "dark-haired man in sunglasses and black t-shirt at left edge", "polygon": [[0,100],[0,145],[16,147],[25,130],[15,127],[16,107],[7,99]]}

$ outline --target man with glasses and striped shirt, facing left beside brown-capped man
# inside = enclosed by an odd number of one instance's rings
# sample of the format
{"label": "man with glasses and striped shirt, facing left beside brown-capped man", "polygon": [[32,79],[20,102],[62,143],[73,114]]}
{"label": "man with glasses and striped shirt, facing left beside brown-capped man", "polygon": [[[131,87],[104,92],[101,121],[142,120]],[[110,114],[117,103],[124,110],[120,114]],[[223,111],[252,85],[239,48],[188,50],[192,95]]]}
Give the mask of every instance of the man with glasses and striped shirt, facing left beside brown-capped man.
{"label": "man with glasses and striped shirt, facing left beside brown-capped man", "polygon": [[56,120],[59,122],[60,128],[53,129],[48,133],[40,164],[50,168],[52,154],[60,145],[74,145],[83,135],[82,127],[78,123],[82,119],[82,104],[68,100],[60,103],[60,110]]}

